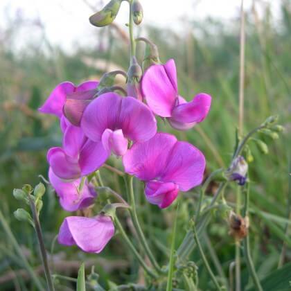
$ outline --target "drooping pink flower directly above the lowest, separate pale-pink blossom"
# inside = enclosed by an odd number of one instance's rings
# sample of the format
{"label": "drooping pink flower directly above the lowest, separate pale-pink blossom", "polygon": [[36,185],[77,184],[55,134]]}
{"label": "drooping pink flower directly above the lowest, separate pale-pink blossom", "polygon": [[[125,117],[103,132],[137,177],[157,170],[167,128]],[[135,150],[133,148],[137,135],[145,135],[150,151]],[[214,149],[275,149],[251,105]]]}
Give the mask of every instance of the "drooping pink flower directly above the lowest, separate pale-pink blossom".
{"label": "drooping pink flower directly above the lowest, separate pale-pink blossom", "polygon": [[84,209],[94,203],[97,194],[87,181],[79,192],[81,179],[73,182],[64,182],[53,173],[51,168],[48,171],[48,178],[55,192],[60,197],[60,204],[64,210],[76,211],[78,209]]}

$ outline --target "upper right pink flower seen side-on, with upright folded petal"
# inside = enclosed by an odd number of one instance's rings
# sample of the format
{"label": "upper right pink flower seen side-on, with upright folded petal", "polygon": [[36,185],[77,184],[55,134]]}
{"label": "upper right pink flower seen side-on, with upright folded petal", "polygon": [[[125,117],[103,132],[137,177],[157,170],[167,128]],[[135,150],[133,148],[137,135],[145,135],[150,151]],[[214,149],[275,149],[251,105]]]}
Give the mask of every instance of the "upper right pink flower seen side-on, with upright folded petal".
{"label": "upper right pink flower seen side-on, with upright folded petal", "polygon": [[174,60],[149,67],[141,80],[143,96],[152,112],[166,117],[177,130],[188,130],[207,116],[211,96],[197,94],[191,102],[179,96]]}

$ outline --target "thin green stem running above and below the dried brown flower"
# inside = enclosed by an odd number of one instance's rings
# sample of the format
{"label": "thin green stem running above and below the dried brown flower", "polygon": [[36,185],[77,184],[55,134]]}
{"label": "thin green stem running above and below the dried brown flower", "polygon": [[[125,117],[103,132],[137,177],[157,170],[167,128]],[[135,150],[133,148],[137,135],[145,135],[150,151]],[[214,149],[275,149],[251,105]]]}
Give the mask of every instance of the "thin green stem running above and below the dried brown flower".
{"label": "thin green stem running above and below the dried brown flower", "polygon": [[[244,217],[247,217],[248,212],[249,212],[249,183],[247,183],[247,191],[245,193],[245,207],[243,209]],[[255,270],[251,252],[250,252],[249,234],[243,240],[243,249],[244,249],[244,254],[245,254],[245,260],[247,261],[247,269],[249,270],[249,273],[252,276],[252,279],[254,281],[254,286],[256,290],[263,291],[260,280],[258,279],[258,276],[256,274],[256,270]]]}

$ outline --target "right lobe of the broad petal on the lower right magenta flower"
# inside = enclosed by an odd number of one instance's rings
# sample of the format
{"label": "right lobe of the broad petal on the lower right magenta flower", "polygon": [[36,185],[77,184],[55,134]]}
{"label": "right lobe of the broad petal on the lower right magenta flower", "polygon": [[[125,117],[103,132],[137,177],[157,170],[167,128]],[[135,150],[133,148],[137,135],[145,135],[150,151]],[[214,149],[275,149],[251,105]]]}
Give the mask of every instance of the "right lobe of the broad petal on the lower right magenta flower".
{"label": "right lobe of the broad petal on the lower right magenta flower", "polygon": [[160,180],[175,182],[181,191],[188,191],[201,184],[204,169],[205,158],[202,152],[190,143],[177,141]]}

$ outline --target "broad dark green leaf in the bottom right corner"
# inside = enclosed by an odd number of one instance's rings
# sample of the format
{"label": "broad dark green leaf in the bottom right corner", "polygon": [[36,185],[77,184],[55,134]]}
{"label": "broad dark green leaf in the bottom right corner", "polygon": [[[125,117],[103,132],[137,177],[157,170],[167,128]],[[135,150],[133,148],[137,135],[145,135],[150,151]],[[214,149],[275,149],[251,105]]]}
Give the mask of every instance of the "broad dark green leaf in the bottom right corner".
{"label": "broad dark green leaf in the bottom right corner", "polygon": [[[269,274],[261,281],[264,291],[288,291],[291,290],[291,263],[288,263]],[[254,291],[254,288],[247,291]]]}

